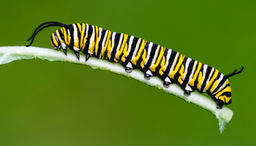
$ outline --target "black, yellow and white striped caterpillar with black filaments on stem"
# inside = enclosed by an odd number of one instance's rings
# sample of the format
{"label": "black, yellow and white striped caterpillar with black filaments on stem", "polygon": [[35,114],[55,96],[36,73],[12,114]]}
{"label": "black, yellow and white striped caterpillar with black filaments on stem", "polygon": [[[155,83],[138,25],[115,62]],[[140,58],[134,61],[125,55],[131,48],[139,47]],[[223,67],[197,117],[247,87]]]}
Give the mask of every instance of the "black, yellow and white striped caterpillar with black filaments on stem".
{"label": "black, yellow and white striped caterpillar with black filaments on stem", "polygon": [[186,96],[195,90],[207,93],[216,102],[217,109],[231,103],[228,78],[241,73],[244,69],[242,67],[238,72],[234,70],[231,74],[223,75],[214,67],[158,44],[84,23],[42,23],[27,40],[31,40],[31,43],[26,47],[32,45],[35,36],[41,30],[51,26],[62,27],[51,35],[51,43],[55,50],[62,48],[67,55],[68,47],[78,60],[79,52],[83,52],[86,61],[89,57],[95,57],[120,63],[128,73],[132,72],[132,69],[139,69],[145,74],[145,79],[150,79],[151,76],[159,77],[166,88],[170,83],[178,84]]}

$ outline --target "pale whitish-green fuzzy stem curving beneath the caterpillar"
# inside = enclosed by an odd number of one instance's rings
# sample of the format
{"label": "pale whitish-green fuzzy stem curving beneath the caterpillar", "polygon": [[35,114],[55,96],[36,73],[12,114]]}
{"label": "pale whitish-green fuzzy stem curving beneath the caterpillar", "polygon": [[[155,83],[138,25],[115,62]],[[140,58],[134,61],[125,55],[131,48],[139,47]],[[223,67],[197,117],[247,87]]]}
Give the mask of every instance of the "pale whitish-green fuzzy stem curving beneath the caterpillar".
{"label": "pale whitish-green fuzzy stem curving beneath the caterpillar", "polygon": [[133,70],[131,73],[127,73],[125,72],[124,67],[118,63],[111,63],[106,60],[96,59],[94,57],[91,57],[88,59],[88,61],[85,61],[84,55],[81,55],[80,60],[78,60],[72,53],[67,53],[66,56],[62,51],[46,48],[25,46],[0,47],[0,65],[12,62],[14,60],[33,58],[87,65],[93,69],[107,70],[116,74],[136,79],[210,111],[218,119],[220,132],[224,130],[225,124],[228,123],[233,116],[233,112],[229,108],[223,107],[222,109],[217,109],[216,103],[212,99],[198,92],[192,92],[190,96],[185,96],[183,94],[184,91],[176,84],[170,84],[169,88],[165,88],[163,86],[163,81],[158,77],[151,77],[150,80],[146,80],[144,79],[144,74],[141,71]]}

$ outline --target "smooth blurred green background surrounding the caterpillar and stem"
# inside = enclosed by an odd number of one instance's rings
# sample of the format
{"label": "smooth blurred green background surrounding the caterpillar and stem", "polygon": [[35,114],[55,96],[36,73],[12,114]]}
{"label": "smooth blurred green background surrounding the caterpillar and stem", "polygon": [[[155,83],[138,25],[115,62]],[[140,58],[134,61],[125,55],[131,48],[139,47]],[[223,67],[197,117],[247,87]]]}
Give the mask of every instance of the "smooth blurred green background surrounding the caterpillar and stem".
{"label": "smooth blurred green background surrounding the caterpillar and stem", "polygon": [[[24,46],[42,22],[88,23],[163,45],[230,78],[232,120],[120,75],[40,59],[0,66],[1,146],[255,145],[256,3],[1,1],[0,46]],[[33,46],[52,48],[41,31]]]}

